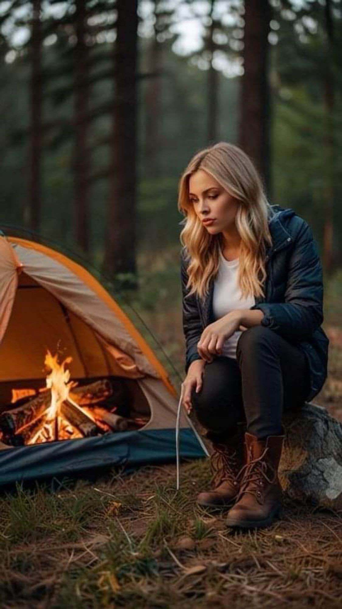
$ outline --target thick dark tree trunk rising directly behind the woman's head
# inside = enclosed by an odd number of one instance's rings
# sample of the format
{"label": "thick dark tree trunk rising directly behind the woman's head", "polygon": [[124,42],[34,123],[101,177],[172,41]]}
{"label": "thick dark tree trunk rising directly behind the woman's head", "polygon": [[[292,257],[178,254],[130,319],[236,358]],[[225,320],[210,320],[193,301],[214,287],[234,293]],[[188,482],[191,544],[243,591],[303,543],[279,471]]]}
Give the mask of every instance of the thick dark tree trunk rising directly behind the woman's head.
{"label": "thick dark tree trunk rising directly behind the woman's head", "polygon": [[270,195],[270,86],[268,0],[245,2],[239,145],[256,163]]}

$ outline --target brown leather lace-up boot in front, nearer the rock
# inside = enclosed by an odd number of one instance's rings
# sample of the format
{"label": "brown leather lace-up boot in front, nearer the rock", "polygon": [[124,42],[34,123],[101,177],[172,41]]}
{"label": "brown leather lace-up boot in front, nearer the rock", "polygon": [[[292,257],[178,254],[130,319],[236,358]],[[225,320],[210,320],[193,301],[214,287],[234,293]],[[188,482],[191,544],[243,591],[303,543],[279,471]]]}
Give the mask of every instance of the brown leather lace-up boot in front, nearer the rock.
{"label": "brown leather lace-up boot in front, nearer the rock", "polygon": [[269,526],[281,510],[282,489],[278,479],[285,435],[269,435],[258,440],[245,433],[247,460],[243,466],[236,503],[229,510],[226,524],[232,527]]}

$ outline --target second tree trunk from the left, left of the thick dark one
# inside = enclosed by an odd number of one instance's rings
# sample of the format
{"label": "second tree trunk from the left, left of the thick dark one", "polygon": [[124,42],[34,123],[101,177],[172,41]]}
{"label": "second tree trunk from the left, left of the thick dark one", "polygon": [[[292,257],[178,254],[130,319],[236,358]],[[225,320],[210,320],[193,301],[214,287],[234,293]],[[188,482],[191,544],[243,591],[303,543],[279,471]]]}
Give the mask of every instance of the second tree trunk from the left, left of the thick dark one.
{"label": "second tree trunk from the left, left of the thick dark one", "polygon": [[88,47],[86,35],[86,1],[76,0],[74,49],[74,225],[76,243],[80,250],[89,253],[89,148],[88,148]]}

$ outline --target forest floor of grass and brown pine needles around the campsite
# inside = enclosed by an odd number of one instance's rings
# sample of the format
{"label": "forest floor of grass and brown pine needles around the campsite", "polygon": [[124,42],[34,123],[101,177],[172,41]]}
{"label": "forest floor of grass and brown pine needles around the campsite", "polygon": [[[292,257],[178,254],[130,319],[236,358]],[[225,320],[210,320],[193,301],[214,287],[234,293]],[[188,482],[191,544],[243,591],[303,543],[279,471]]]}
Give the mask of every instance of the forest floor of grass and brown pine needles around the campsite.
{"label": "forest floor of grass and brown pine needles around the campsite", "polygon": [[[148,315],[182,371],[179,309]],[[342,324],[325,329],[329,378],[313,403],[342,421]],[[237,532],[195,505],[209,479],[200,459],[181,465],[178,493],[174,464],[2,493],[1,609],[342,606],[341,512],[284,496],[271,527]]]}

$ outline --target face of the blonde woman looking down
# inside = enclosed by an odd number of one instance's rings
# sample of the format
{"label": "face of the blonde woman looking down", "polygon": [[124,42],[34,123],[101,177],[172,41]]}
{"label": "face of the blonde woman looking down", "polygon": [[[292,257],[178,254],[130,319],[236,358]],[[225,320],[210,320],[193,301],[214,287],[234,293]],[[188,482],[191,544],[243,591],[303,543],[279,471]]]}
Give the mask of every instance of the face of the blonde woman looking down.
{"label": "face of the blonde woman looking down", "polygon": [[198,218],[203,222],[213,218],[211,224],[203,224],[208,233],[224,233],[235,227],[235,217],[240,203],[204,169],[198,169],[189,178],[189,201]]}

